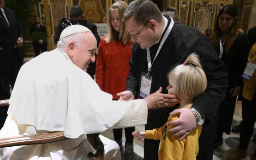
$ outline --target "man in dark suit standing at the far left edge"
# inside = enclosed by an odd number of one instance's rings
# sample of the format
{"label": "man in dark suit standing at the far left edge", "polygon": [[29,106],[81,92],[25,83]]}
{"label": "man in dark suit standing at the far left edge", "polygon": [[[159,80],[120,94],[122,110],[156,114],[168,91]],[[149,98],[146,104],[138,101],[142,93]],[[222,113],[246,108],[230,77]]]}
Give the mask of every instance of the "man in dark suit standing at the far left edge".
{"label": "man in dark suit standing at the far left edge", "polygon": [[[15,11],[0,0],[0,100],[10,98],[18,72],[23,64],[23,35]],[[0,128],[7,117],[8,106],[0,107]]]}

